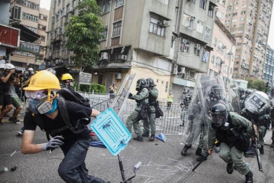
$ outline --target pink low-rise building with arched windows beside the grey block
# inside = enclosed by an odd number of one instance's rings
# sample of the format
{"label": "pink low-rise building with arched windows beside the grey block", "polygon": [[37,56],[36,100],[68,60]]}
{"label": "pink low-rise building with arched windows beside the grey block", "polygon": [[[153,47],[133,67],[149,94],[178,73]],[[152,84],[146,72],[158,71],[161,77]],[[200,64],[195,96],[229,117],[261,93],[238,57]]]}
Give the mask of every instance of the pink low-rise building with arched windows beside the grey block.
{"label": "pink low-rise building with arched windows beside the grey block", "polygon": [[[220,12],[225,10],[223,5],[224,1],[217,2],[217,15],[223,17]],[[232,78],[234,55],[235,55],[235,43],[233,35],[225,28],[224,19],[215,17],[215,23],[213,26],[212,47],[213,51],[209,55],[209,73],[215,75],[222,75],[225,85],[230,83]]]}

